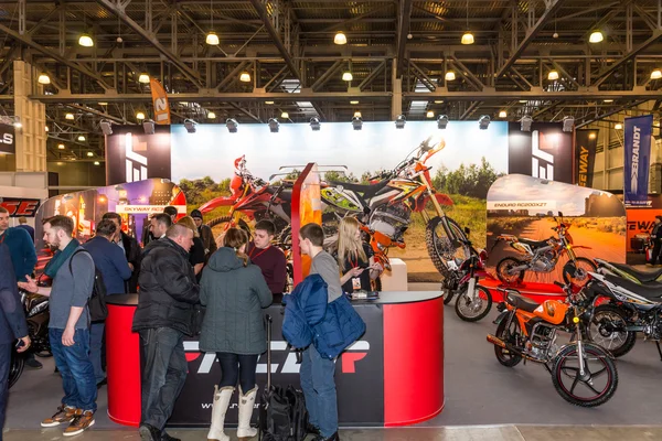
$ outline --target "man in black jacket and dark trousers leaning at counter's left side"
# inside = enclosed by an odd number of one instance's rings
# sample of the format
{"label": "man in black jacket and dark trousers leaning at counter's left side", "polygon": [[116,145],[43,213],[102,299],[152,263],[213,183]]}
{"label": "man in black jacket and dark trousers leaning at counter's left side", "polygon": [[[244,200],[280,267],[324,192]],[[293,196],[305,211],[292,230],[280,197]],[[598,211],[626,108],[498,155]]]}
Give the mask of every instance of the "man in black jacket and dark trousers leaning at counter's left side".
{"label": "man in black jacket and dark trousers leaning at counter's left side", "polygon": [[200,299],[200,286],[189,263],[192,245],[193,232],[175,224],[143,250],[134,315],[143,366],[142,441],[173,440],[163,428],[186,379],[183,340],[193,335],[194,305]]}

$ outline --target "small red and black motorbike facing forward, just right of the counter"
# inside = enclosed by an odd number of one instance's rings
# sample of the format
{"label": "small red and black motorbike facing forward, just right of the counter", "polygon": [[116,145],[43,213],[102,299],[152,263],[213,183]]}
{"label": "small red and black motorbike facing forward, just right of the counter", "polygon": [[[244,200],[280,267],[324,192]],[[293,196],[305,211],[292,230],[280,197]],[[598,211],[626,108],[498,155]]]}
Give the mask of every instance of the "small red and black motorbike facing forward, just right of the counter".
{"label": "small red and black motorbike facing forward, just right of the counter", "polygon": [[[466,227],[467,237],[470,233]],[[466,240],[465,245],[469,247],[471,256],[465,261],[448,262],[450,271],[441,284],[445,291],[444,304],[450,303],[455,294],[458,294],[456,300],[458,316],[467,322],[478,322],[488,315],[492,308],[490,290],[478,284],[478,281],[481,278],[494,279],[494,277],[487,271],[488,252],[484,249],[473,248],[470,240]]]}

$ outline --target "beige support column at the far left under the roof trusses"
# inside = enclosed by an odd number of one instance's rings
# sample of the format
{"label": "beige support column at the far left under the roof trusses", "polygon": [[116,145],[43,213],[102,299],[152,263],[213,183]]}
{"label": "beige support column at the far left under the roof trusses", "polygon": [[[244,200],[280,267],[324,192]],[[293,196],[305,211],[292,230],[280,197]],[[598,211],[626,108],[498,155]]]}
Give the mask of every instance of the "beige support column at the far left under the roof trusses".
{"label": "beige support column at the far left under the roof trusses", "polygon": [[[14,112],[23,127],[17,128],[17,172],[46,171],[46,106],[28,96],[32,94],[34,68],[30,63],[13,62]],[[43,86],[39,86],[43,87]]]}

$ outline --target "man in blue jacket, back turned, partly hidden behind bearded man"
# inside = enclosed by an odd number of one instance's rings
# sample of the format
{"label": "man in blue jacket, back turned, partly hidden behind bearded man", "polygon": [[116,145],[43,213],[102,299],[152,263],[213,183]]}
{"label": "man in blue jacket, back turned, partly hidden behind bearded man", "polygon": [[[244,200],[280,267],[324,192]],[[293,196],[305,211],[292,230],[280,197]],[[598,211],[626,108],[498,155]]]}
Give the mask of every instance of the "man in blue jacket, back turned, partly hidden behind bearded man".
{"label": "man in blue jacket, back turned, partly hidden behind bearded man", "polygon": [[[116,233],[117,225],[110,219],[104,219],[97,224],[95,236],[83,245],[104,277],[108,295],[126,293],[125,280],[131,278],[131,268],[124,251],[113,241]],[[89,327],[89,358],[94,366],[97,388],[106,384],[106,374],[102,366],[104,329],[104,322],[94,322]]]}

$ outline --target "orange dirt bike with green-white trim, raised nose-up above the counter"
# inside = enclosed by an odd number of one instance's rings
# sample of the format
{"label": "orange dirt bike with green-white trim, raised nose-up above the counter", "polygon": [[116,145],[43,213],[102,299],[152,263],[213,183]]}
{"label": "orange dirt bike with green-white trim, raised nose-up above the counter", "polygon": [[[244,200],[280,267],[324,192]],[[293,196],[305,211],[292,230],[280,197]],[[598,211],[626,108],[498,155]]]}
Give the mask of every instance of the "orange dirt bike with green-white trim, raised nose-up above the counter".
{"label": "orange dirt bike with green-white trim, raised nose-up above the counter", "polygon": [[[462,243],[467,239],[465,233],[442,209],[444,205],[452,205],[452,201],[433,187],[431,168],[426,165],[427,160],[445,147],[444,141],[430,146],[428,138],[395,169],[376,176],[380,179],[376,183],[323,183],[322,203],[343,216],[357,216],[367,230],[380,233],[381,236],[375,240],[381,247],[388,244],[404,248],[404,234],[412,223],[412,213],[420,213],[426,223],[428,254],[435,268],[445,275],[449,260],[466,260],[470,254]],[[425,209],[428,202],[433,203],[436,212],[431,218]]]}

